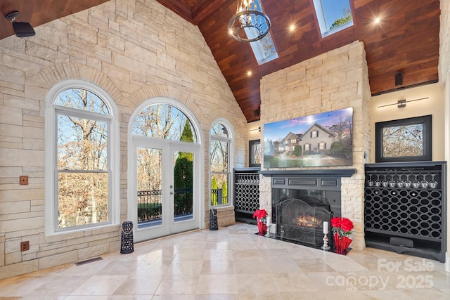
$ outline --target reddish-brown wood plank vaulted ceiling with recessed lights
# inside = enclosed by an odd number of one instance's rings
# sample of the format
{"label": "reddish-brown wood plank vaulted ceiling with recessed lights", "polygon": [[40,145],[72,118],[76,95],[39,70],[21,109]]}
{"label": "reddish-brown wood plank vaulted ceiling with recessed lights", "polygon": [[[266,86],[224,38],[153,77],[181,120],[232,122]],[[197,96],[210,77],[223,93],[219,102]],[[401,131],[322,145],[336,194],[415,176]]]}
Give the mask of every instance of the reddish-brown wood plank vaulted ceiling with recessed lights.
{"label": "reddish-brown wood plank vaulted ceiling with recessed lights", "polygon": [[[19,11],[18,20],[33,27],[107,0],[3,0],[1,13]],[[233,91],[248,122],[259,109],[259,80],[334,48],[364,41],[371,93],[385,93],[408,86],[436,82],[439,59],[439,0],[350,0],[354,26],[321,38],[313,0],[262,0],[271,20],[271,34],[279,58],[258,66],[250,44],[229,37],[226,26],[236,13],[236,0],[156,0],[200,32]],[[381,18],[379,24],[373,20]],[[13,35],[11,24],[0,18],[0,39]],[[295,24],[295,31],[288,27]],[[252,71],[248,77],[247,72]],[[395,86],[396,72],[404,73]]]}

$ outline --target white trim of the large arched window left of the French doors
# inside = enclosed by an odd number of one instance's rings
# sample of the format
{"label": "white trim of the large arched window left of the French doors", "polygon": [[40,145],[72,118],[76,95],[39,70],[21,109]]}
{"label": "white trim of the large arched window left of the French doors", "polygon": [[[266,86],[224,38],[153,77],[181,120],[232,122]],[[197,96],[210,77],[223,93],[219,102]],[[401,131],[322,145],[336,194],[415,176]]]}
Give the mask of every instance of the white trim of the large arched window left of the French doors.
{"label": "white trim of the large arched window left of the French doors", "polygon": [[[54,105],[56,97],[68,89],[86,89],[95,93],[107,105],[110,115],[110,129],[109,136],[109,153],[108,159],[110,163],[110,216],[109,221],[105,223],[94,223],[89,226],[77,226],[66,230],[58,230],[56,228],[56,167],[57,167],[57,152],[56,152],[56,108],[58,110],[69,111],[70,108]],[[61,81],[53,86],[46,94],[46,108],[45,108],[45,235],[63,235],[66,233],[73,233],[84,230],[92,230],[97,228],[104,228],[108,226],[117,226],[120,223],[120,131],[119,131],[119,110],[115,105],[113,98],[95,84],[81,80],[68,79]],[[89,115],[89,112],[86,112]],[[105,115],[105,117],[107,117]]]}

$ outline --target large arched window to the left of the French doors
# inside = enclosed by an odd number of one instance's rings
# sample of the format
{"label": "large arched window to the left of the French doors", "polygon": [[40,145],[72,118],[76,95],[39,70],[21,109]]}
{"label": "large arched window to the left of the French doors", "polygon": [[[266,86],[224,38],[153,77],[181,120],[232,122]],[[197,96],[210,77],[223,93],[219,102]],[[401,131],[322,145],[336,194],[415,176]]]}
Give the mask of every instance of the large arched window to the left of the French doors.
{"label": "large arched window to the left of the French doors", "polygon": [[46,112],[46,233],[117,223],[115,107],[107,93],[81,80],[49,93]]}

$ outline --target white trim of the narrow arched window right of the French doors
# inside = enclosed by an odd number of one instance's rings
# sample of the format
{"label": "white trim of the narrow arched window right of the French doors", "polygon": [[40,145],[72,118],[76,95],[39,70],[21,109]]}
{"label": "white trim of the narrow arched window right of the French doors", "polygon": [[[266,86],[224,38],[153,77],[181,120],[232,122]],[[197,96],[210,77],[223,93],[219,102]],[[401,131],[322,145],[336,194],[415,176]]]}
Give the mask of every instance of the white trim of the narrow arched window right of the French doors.
{"label": "white trim of the narrow arched window right of the French doors", "polygon": [[[224,136],[214,136],[211,134],[211,127],[214,124],[221,124],[225,127],[227,133],[228,133],[228,137],[224,137]],[[233,130],[233,126],[231,126],[231,123],[225,119],[225,118],[217,118],[215,119],[210,126],[210,143],[211,143],[211,139],[212,136],[214,136],[214,140],[216,141],[226,141],[229,143],[229,154],[228,154],[228,171],[229,171],[229,181],[228,181],[228,195],[229,195],[229,201],[227,204],[221,204],[221,205],[216,205],[214,206],[214,208],[219,208],[219,207],[231,207],[234,205],[234,176],[233,176],[233,167],[234,166],[234,130]],[[210,206],[210,208],[212,208],[212,204],[211,204],[211,153],[210,153],[210,145],[208,145],[208,204]]]}

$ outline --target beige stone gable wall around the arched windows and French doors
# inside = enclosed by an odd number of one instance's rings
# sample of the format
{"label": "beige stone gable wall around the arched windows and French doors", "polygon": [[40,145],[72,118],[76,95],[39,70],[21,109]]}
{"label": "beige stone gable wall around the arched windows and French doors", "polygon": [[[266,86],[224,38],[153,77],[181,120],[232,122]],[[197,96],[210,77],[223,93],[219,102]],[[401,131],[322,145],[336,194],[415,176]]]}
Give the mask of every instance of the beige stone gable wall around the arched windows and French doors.
{"label": "beige stone gable wall around the arched windows and French doors", "polygon": [[[245,166],[247,125],[198,27],[154,0],[115,0],[61,18],[26,39],[0,41],[0,279],[120,249],[120,226],[44,234],[44,99],[64,79],[85,79],[107,91],[120,122],[120,219],[127,219],[128,125],[144,100],[166,96],[191,110],[205,137],[205,227],[209,130],[228,119],[235,130],[235,166]],[[19,176],[29,185],[19,185]],[[234,222],[219,209],[219,225]],[[30,250],[20,252],[20,242]]]}

